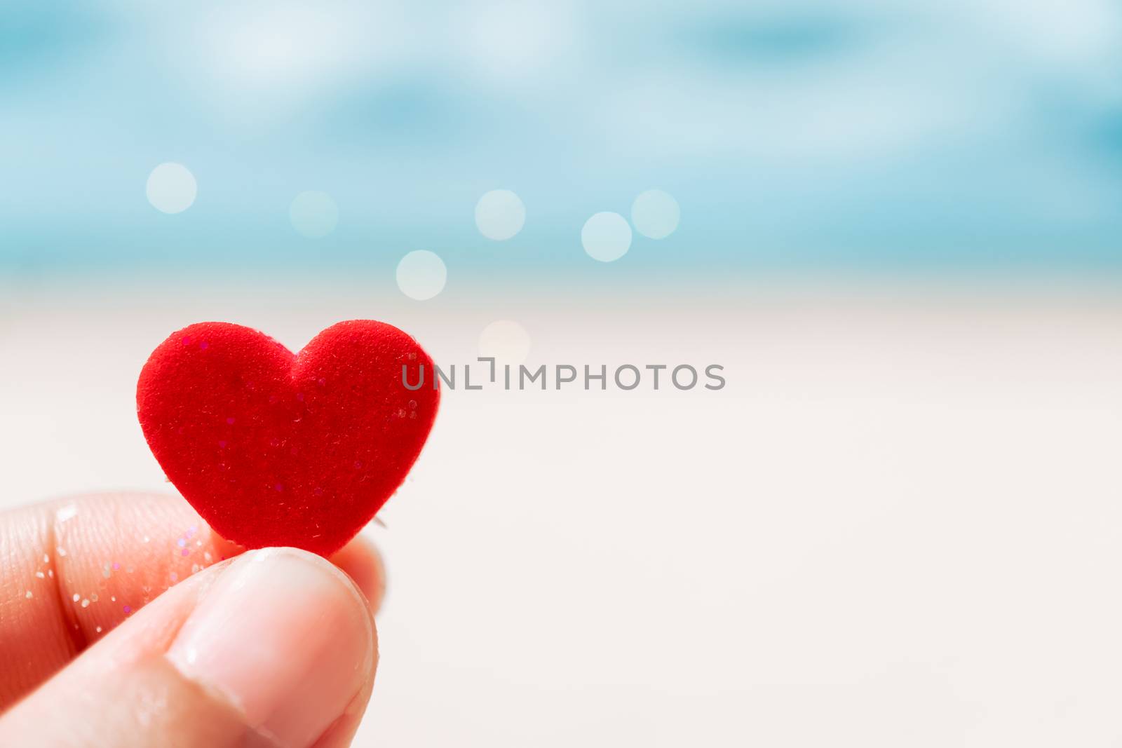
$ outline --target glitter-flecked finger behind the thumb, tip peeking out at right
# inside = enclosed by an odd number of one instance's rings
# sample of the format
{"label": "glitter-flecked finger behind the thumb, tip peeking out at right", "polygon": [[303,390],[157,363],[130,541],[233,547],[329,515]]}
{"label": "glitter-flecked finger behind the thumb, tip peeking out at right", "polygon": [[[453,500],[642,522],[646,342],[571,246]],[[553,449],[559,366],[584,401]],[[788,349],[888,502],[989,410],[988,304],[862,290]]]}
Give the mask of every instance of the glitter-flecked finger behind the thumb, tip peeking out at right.
{"label": "glitter-flecked finger behind the thumb, tip peeking out at right", "polygon": [[[173,496],[88,496],[0,515],[0,711],[167,588],[240,552]],[[368,542],[339,563],[380,600]]]}

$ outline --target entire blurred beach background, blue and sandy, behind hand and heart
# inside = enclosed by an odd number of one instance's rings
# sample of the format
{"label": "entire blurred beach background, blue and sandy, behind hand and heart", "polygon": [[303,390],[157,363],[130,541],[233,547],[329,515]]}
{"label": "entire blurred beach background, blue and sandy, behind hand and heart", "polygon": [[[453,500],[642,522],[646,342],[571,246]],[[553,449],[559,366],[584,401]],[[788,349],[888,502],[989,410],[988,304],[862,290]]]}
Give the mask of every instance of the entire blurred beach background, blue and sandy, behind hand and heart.
{"label": "entire blurred beach background, blue and sandy, behind hand and heart", "polygon": [[725,367],[445,393],[356,745],[1122,741],[1116,2],[0,15],[0,507],[201,320]]}

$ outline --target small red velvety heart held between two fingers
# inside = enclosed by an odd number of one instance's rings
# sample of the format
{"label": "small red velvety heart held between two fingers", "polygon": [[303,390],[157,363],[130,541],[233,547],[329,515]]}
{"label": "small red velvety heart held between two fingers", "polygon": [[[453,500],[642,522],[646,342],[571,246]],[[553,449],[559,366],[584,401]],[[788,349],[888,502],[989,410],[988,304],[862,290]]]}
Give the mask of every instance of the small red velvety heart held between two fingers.
{"label": "small red velvety heart held between two fingers", "polygon": [[[415,385],[423,366],[424,386]],[[168,479],[222,537],[328,555],[405,480],[436,416],[432,359],[381,322],[340,322],[298,354],[201,322],[160,343],[137,415]]]}

